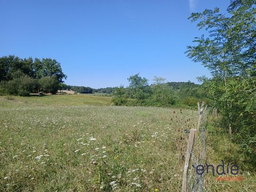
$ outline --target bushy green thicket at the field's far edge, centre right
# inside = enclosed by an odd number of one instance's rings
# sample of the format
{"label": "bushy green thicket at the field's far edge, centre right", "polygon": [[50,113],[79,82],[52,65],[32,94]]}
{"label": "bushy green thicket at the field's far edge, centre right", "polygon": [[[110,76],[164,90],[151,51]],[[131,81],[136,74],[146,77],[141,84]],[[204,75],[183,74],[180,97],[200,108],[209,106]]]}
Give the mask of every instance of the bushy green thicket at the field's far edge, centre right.
{"label": "bushy green thicket at the field's far edge, centre right", "polygon": [[195,107],[199,101],[212,102],[205,97],[201,86],[192,82],[166,82],[163,77],[155,76],[153,84],[138,74],[127,78],[129,86],[116,87],[113,103],[117,106],[157,106],[157,107]]}

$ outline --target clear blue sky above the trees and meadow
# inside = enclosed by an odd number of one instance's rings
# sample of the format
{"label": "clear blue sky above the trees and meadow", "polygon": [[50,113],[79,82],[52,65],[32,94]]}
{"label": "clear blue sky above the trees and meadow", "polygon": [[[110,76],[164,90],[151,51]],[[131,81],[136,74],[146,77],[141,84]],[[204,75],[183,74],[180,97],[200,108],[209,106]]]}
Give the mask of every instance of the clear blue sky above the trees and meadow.
{"label": "clear blue sky above the trees and meadow", "polygon": [[191,12],[220,7],[225,0],[0,0],[0,57],[53,58],[69,85],[128,85],[140,73],[150,80],[197,82],[207,69],[186,57],[201,36]]}

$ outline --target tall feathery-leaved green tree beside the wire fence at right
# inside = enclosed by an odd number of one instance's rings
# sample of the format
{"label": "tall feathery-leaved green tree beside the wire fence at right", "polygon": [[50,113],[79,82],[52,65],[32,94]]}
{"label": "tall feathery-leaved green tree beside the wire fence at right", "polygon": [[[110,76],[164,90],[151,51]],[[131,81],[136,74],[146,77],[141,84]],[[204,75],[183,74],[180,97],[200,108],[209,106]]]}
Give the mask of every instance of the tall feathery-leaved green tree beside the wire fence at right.
{"label": "tall feathery-leaved green tree beside the wire fence at right", "polygon": [[230,16],[218,8],[191,14],[189,19],[209,35],[195,37],[196,45],[188,46],[186,53],[211,71],[213,78],[204,79],[203,87],[214,98],[229,134],[235,133],[236,141],[256,154],[255,1],[232,1],[227,11]]}

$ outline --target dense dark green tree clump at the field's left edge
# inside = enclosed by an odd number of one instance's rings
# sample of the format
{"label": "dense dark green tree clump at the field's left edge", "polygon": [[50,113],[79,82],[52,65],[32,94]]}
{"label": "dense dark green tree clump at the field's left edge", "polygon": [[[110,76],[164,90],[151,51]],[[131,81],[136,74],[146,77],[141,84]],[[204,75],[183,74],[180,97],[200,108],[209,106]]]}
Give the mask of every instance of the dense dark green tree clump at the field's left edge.
{"label": "dense dark green tree clump at the field's left edge", "polygon": [[9,55],[0,58],[0,93],[27,96],[31,92],[55,93],[67,76],[55,59]]}

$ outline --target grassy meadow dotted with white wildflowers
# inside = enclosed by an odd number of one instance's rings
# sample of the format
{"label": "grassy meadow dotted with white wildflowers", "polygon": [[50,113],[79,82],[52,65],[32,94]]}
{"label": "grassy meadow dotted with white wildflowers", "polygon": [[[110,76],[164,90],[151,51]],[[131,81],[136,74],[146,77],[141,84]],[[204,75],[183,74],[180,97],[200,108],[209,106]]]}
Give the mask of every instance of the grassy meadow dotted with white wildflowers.
{"label": "grassy meadow dotted with white wildflowers", "polygon": [[[84,94],[1,96],[0,191],[180,191],[183,130],[195,127],[197,111],[110,103]],[[207,156],[220,163],[214,145]],[[239,182],[205,180],[206,191],[256,191],[252,172]]]}

